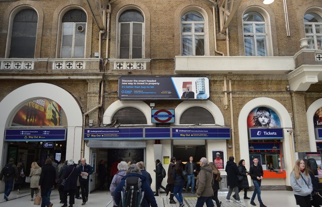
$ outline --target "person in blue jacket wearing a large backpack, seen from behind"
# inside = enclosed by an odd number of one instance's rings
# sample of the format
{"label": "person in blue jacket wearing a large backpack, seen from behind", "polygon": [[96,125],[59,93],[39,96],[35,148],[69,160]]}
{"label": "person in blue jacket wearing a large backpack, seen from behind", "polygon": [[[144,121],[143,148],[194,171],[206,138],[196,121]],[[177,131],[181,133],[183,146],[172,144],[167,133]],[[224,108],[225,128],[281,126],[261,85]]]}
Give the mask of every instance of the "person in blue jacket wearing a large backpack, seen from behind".
{"label": "person in blue jacket wearing a large backpack, seen from behind", "polygon": [[119,207],[129,206],[130,203],[133,207],[157,207],[153,191],[136,164],[127,168],[126,175],[115,188],[114,200]]}

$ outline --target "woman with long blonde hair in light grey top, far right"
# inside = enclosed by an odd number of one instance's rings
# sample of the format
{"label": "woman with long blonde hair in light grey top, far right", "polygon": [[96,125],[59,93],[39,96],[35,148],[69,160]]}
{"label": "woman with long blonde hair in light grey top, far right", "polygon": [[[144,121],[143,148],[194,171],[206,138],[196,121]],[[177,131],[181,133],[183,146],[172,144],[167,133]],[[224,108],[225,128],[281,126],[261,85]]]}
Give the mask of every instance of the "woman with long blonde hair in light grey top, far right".
{"label": "woman with long blonde hair in light grey top, far right", "polygon": [[293,188],[296,204],[300,207],[310,207],[313,186],[304,160],[296,160],[294,169],[291,172],[290,183]]}

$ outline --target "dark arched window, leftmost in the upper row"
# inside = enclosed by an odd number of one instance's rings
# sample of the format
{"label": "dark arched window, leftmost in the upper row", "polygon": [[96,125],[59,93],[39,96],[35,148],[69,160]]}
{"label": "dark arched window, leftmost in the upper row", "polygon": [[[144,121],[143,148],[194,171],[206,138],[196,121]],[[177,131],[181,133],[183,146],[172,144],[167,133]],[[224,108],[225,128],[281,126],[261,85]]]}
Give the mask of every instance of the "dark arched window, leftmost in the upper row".
{"label": "dark arched window, leftmost in the upper row", "polygon": [[38,15],[32,9],[17,13],[12,26],[10,58],[34,58]]}

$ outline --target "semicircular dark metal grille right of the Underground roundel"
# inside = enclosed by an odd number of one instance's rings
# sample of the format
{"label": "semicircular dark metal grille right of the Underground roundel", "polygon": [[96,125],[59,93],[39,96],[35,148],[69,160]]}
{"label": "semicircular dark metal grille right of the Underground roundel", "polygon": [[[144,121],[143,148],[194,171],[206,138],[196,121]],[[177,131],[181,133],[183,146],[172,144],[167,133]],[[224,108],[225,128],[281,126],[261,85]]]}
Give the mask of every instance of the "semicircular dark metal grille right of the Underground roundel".
{"label": "semicircular dark metal grille right of the Underground roundel", "polygon": [[181,115],[180,124],[215,124],[215,119],[205,108],[191,107]]}

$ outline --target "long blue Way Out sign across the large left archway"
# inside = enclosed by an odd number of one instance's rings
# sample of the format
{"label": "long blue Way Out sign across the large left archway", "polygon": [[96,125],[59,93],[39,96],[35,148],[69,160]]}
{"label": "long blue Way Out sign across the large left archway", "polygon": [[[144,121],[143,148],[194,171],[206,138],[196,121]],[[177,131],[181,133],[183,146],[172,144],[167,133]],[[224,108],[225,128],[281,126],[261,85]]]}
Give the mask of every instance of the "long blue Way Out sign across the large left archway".
{"label": "long blue Way Out sign across the large left archway", "polygon": [[63,141],[66,129],[6,129],[5,141]]}

